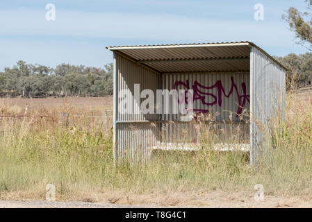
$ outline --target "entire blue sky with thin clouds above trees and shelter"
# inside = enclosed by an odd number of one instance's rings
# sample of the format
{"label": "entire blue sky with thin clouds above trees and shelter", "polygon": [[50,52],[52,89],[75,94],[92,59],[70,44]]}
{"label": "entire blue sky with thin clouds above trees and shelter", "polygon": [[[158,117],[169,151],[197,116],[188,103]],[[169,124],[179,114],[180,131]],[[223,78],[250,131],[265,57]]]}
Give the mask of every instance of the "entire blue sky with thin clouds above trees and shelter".
{"label": "entire blue sky with thin clouds above trees and shelter", "polygon": [[[47,21],[47,3],[56,20]],[[264,20],[254,20],[254,5]],[[106,46],[251,41],[272,56],[306,53],[281,15],[304,0],[10,0],[0,2],[0,71],[17,60],[104,67]]]}

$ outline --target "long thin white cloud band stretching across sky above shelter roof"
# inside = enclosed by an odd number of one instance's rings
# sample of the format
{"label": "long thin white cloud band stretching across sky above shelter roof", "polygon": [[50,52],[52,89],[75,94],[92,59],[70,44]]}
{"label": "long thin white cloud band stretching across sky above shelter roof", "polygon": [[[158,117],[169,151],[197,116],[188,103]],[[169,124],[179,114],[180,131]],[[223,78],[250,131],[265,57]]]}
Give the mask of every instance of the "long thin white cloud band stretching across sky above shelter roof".
{"label": "long thin white cloud band stretching across sky above shelter roof", "polygon": [[47,21],[42,10],[0,10],[0,34],[109,37],[138,40],[222,42],[249,40],[256,44],[290,44],[293,33],[283,22],[214,20],[167,14],[95,13],[58,10]]}

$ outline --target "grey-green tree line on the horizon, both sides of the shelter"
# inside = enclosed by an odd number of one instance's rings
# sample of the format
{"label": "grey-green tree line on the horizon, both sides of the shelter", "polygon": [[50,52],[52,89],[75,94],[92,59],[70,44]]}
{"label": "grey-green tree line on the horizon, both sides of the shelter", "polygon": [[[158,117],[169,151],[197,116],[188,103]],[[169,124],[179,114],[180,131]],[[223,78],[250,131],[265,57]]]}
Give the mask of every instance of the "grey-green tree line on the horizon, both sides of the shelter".
{"label": "grey-green tree line on the horizon, both sides of the shelter", "polygon": [[[312,53],[274,56],[286,71],[287,89],[312,84]],[[113,94],[113,64],[104,69],[62,63],[56,68],[20,60],[0,72],[0,96],[43,98],[48,96],[107,96]]]}

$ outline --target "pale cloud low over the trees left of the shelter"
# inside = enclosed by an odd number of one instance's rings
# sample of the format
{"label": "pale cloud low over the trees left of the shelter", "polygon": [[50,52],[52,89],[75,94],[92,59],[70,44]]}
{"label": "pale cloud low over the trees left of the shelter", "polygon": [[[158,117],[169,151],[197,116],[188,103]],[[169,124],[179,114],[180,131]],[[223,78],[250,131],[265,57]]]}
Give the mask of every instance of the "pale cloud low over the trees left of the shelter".
{"label": "pale cloud low over the trees left of the shelter", "polygon": [[105,46],[87,42],[0,40],[0,71],[18,60],[56,67],[60,63],[104,67],[113,56]]}

